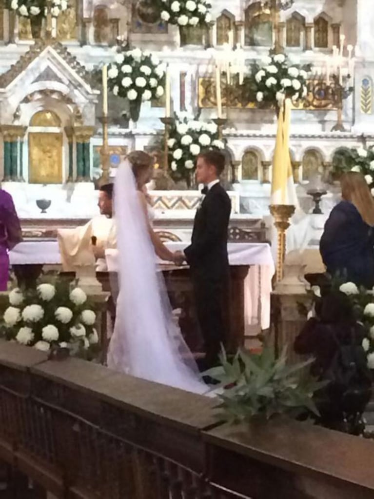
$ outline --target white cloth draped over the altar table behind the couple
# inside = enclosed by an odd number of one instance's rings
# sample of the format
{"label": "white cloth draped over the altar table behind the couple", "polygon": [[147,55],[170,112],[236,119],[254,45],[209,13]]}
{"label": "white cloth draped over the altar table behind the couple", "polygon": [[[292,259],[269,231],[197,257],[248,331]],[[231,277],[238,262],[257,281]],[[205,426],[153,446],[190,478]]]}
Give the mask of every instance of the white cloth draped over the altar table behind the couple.
{"label": "white cloth draped over the altar table behind the couple", "polygon": [[[183,250],[188,243],[167,243],[170,250]],[[106,259],[109,271],[117,269],[117,250],[107,250]],[[230,265],[249,265],[245,279],[245,322],[249,326],[259,321],[266,329],[270,323],[271,279],[275,272],[270,246],[263,243],[229,243]],[[11,265],[61,263],[57,241],[24,241],[9,252]],[[261,304],[259,310],[259,303]],[[259,317],[260,313],[260,317]]]}

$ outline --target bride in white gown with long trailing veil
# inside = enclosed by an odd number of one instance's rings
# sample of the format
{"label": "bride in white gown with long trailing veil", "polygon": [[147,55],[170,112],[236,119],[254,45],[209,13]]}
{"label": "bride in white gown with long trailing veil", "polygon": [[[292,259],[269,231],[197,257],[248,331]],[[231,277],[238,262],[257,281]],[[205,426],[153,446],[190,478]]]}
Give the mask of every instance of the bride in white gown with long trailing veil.
{"label": "bride in white gown with long trailing veil", "polygon": [[175,323],[163,275],[157,269],[156,254],[173,261],[174,253],[152,227],[152,209],[144,194],[152,171],[152,158],[135,151],[116,175],[119,294],[108,367],[203,394],[208,387]]}

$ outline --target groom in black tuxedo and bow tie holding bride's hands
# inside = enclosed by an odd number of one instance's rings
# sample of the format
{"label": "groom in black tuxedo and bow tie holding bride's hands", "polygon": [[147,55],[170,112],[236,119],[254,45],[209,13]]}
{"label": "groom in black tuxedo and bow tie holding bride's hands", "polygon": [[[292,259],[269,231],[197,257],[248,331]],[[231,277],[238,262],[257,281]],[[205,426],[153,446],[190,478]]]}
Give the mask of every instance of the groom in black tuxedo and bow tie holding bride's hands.
{"label": "groom in black tuxedo and bow tie holding bride's hands", "polygon": [[181,260],[190,266],[197,319],[205,345],[206,368],[218,360],[221,343],[228,329],[229,264],[227,231],[231,212],[230,198],[219,183],[225,158],[218,151],[201,153],[196,163],[196,180],[204,184],[204,198],[197,209],[191,245]]}

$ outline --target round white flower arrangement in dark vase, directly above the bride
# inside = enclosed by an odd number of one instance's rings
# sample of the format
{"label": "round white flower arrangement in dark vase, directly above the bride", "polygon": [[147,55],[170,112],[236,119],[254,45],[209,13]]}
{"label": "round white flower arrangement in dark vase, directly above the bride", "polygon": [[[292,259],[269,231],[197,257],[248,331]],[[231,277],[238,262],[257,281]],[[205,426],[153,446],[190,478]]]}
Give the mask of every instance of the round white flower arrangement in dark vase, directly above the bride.
{"label": "round white flower arrangement in dark vase, directly above the bride", "polygon": [[140,48],[115,53],[108,67],[108,86],[114,95],[129,100],[133,121],[138,121],[142,102],[164,95],[166,67],[159,58]]}

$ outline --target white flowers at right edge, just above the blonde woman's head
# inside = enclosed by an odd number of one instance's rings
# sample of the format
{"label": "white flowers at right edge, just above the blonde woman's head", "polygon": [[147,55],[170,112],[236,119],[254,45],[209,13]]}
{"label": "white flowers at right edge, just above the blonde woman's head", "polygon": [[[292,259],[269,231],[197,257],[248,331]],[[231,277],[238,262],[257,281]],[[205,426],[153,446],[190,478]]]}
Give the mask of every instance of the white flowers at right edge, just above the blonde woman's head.
{"label": "white flowers at right edge, just above the blonde woman's head", "polygon": [[362,173],[374,196],[374,149],[354,147],[342,149],[334,156],[333,176],[339,178],[346,172]]}

